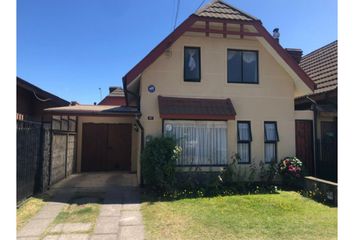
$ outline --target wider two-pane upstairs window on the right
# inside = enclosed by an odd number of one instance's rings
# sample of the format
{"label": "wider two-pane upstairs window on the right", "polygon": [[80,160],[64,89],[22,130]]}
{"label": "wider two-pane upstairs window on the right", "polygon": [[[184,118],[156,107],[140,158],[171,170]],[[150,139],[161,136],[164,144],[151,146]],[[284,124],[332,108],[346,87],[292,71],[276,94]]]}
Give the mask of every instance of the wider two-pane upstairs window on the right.
{"label": "wider two-pane upstairs window on the right", "polygon": [[258,52],[227,50],[227,82],[258,83]]}

